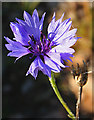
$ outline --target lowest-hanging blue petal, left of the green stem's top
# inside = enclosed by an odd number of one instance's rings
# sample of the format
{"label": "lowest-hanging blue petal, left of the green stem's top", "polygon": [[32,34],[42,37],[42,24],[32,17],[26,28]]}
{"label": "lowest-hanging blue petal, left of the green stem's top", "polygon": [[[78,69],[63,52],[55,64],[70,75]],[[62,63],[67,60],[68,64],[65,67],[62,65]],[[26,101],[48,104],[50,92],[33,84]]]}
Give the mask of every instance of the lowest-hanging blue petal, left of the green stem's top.
{"label": "lowest-hanging blue petal, left of the green stem's top", "polygon": [[26,76],[28,74],[31,74],[36,79],[36,77],[38,75],[38,70],[41,70],[44,74],[46,74],[47,76],[51,77],[51,69],[42,62],[40,57],[37,57],[32,62],[32,64],[29,67],[29,70],[26,73]]}

